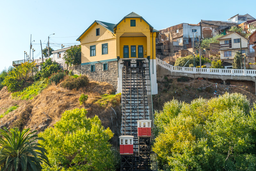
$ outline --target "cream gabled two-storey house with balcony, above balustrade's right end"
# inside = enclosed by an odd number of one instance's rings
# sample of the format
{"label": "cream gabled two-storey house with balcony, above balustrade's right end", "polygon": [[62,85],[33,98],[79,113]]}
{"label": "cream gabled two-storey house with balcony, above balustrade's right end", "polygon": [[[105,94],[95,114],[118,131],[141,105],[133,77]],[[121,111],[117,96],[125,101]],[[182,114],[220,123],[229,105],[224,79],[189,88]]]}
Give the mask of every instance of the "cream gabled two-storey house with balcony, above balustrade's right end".
{"label": "cream gabled two-storey house with balcony, above balustrade's right end", "polygon": [[248,40],[236,32],[230,32],[217,40],[220,41],[220,59],[234,58],[235,53],[240,52],[240,45],[242,45],[242,53],[248,53]]}

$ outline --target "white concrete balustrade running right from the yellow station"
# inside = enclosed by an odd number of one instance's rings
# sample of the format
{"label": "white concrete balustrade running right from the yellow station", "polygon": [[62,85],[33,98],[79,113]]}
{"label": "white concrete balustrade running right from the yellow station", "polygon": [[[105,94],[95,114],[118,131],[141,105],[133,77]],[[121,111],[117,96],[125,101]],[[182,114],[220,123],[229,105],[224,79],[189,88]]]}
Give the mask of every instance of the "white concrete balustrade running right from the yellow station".
{"label": "white concrete balustrade running right from the yellow station", "polygon": [[156,64],[170,70],[171,72],[188,74],[209,74],[209,75],[234,75],[234,76],[256,76],[256,70],[252,69],[215,69],[215,68],[190,68],[177,67],[156,58]]}

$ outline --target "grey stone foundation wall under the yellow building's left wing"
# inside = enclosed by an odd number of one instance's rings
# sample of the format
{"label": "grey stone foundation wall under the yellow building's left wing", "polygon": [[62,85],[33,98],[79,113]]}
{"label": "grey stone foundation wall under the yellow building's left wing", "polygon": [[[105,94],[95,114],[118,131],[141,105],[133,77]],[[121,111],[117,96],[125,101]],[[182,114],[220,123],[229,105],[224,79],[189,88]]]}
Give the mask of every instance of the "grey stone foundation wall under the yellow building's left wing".
{"label": "grey stone foundation wall under the yellow building's left wing", "polygon": [[117,89],[117,61],[110,61],[107,63],[108,70],[103,70],[103,63],[96,63],[94,72],[91,72],[91,65],[82,65],[81,74],[87,75],[89,78],[99,82],[108,82],[109,84],[114,85]]}

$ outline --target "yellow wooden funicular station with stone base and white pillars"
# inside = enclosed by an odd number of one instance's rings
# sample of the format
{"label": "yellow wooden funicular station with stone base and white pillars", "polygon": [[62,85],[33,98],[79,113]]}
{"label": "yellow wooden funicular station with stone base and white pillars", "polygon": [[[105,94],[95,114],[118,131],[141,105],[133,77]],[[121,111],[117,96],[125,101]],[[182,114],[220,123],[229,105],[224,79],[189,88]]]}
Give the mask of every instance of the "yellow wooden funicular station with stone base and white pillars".
{"label": "yellow wooden funicular station with stone base and white pillars", "polygon": [[82,74],[122,89],[122,60],[149,60],[152,94],[157,94],[156,37],[159,32],[132,12],[119,23],[94,21],[77,39],[82,46]]}

